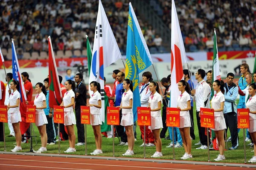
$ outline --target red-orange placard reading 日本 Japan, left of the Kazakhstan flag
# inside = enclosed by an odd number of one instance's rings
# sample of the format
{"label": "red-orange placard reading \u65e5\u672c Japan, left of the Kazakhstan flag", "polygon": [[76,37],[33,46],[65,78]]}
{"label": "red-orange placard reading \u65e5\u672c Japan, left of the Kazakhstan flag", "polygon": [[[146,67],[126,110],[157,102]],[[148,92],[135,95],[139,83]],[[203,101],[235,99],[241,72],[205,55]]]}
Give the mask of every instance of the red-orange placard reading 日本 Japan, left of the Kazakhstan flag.
{"label": "red-orange placard reading \u65e5\u672c Japan, left of the Kazakhstan flag", "polygon": [[107,107],[107,124],[120,125],[119,108]]}

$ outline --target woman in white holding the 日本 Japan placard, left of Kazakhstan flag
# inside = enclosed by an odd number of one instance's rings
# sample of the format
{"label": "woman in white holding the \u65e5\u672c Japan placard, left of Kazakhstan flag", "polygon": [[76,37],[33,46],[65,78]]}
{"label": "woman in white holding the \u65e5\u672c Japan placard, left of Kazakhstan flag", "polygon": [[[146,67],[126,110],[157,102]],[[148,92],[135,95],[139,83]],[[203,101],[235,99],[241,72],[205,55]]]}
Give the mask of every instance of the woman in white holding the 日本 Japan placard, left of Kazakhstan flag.
{"label": "woman in white holding the \u65e5\u672c Japan placard, left of Kazakhstan flag", "polygon": [[125,127],[125,133],[127,135],[128,141],[128,150],[122,154],[123,156],[132,156],[134,155],[134,131],[133,131],[133,85],[130,79],[125,79],[123,81],[123,89],[125,92],[122,94],[122,102],[119,107],[122,109],[122,119],[121,125]]}

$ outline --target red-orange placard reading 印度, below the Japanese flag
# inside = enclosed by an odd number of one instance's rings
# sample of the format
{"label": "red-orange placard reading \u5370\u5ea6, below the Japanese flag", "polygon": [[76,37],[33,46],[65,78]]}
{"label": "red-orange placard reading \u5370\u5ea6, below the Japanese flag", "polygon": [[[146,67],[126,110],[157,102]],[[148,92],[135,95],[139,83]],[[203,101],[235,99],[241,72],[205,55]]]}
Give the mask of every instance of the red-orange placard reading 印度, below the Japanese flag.
{"label": "red-orange placard reading \u5370\u5ea6, below the Japanese flag", "polygon": [[180,127],[180,109],[175,107],[166,108],[166,126]]}

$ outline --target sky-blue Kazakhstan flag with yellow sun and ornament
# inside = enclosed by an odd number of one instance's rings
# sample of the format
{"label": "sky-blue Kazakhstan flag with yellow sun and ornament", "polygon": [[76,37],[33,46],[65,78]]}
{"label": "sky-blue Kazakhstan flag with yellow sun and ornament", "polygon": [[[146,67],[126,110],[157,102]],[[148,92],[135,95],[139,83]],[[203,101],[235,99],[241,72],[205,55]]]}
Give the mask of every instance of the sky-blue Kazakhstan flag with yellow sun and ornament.
{"label": "sky-blue Kazakhstan flag with yellow sun and ornament", "polygon": [[129,3],[125,78],[133,82],[134,121],[137,121],[137,107],[140,107],[139,73],[151,66],[152,63],[151,55],[141,32],[139,22],[131,3]]}

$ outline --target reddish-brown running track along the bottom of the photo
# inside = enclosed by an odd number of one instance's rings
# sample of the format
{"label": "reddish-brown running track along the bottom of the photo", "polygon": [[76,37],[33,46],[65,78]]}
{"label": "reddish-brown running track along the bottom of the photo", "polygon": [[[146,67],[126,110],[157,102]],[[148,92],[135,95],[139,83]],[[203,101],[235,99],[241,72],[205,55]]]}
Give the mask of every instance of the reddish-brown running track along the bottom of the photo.
{"label": "reddish-brown running track along the bottom of the photo", "polygon": [[247,170],[246,167],[0,154],[0,170]]}

